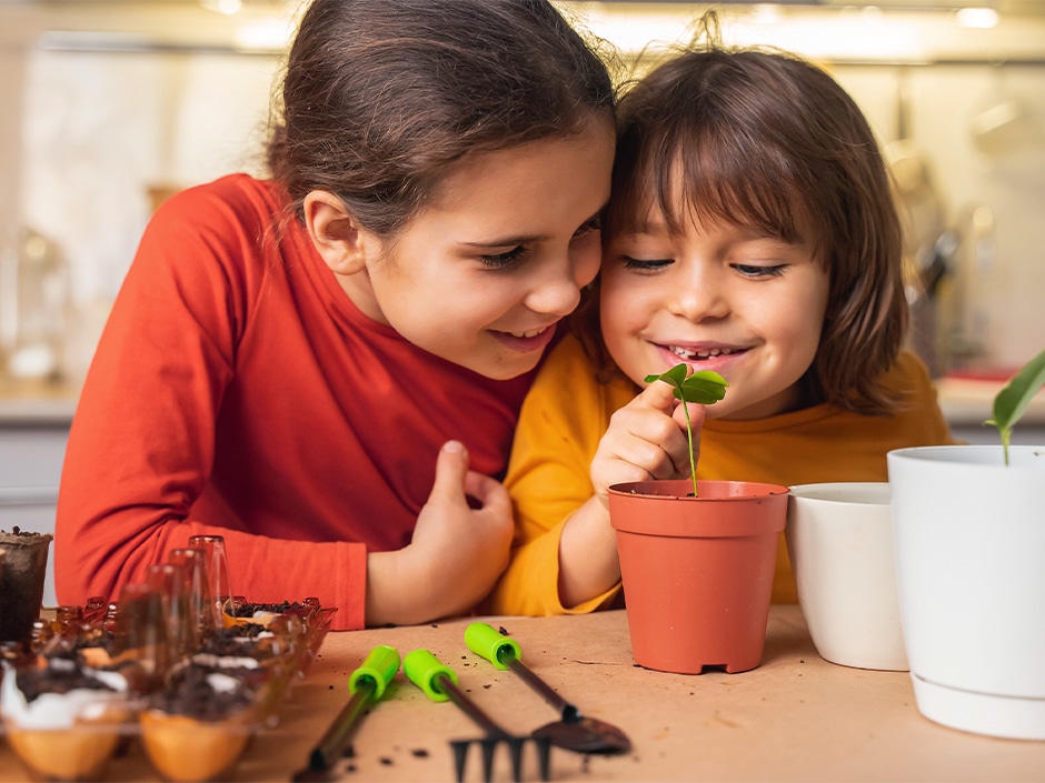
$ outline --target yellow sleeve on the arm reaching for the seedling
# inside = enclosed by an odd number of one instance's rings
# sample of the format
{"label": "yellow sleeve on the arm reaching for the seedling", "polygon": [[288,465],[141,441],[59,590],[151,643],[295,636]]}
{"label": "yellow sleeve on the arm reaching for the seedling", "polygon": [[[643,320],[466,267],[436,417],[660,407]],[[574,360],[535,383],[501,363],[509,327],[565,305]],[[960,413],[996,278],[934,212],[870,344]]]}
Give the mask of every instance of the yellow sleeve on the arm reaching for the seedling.
{"label": "yellow sleeve on the arm reaching for the seedling", "polygon": [[511,562],[484,605],[490,614],[579,614],[611,599],[619,585],[585,603],[559,601],[559,539],[566,520],[595,493],[590,465],[613,409],[608,388],[574,338],[541,367],[516,428],[505,485],[516,534]]}

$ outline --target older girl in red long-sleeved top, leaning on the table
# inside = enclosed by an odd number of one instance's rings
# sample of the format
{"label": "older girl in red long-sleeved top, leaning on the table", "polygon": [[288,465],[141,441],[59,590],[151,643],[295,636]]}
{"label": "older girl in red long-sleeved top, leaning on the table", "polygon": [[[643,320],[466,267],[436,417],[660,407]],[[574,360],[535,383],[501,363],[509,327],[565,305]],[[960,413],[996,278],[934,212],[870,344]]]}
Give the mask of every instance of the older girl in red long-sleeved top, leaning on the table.
{"label": "older girl in red long-sleeved top, leaning on the table", "polygon": [[185,191],[141,240],[70,433],[59,600],[217,534],[237,593],[337,629],[472,606],[613,154],[606,67],[544,0],[314,0],[271,179]]}

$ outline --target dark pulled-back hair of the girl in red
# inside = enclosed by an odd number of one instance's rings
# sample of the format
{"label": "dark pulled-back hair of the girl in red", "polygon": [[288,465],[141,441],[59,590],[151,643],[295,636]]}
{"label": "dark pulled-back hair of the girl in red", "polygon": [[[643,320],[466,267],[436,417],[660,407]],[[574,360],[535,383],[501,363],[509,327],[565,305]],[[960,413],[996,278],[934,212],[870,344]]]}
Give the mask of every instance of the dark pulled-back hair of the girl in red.
{"label": "dark pulled-back hair of the girl in red", "polygon": [[613,122],[606,63],[547,0],[312,0],[267,159],[298,215],[337,194],[391,235],[466,154]]}

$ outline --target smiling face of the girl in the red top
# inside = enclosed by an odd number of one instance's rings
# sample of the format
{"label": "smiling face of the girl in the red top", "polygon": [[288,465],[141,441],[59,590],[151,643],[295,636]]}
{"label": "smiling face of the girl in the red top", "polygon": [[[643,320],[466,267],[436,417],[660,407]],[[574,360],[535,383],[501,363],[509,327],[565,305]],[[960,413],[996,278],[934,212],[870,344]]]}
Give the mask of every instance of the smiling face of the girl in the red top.
{"label": "smiling face of the girl in the red top", "polygon": [[[364,313],[494,379],[533,370],[601,260],[613,123],[478,153],[392,240],[360,230],[338,274]],[[338,271],[337,269],[335,271]]]}

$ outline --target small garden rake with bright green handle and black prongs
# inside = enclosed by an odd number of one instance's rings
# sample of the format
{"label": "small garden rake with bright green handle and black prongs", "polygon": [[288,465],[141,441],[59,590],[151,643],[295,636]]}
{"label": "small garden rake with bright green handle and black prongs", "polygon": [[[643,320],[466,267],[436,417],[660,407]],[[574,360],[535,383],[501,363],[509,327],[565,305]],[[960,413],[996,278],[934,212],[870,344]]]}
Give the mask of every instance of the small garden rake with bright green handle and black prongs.
{"label": "small garden rake with bright green handle and black prongs", "polygon": [[517,736],[509,734],[479,706],[471,701],[465,692],[457,686],[457,673],[427,650],[415,650],[407,653],[402,660],[402,671],[425,694],[435,702],[454,702],[468,717],[478,724],[486,733],[481,740],[451,740],[454,749],[454,763],[457,766],[457,781],[465,779],[465,762],[469,745],[478,742],[482,749],[482,774],[486,783],[490,783],[494,773],[494,749],[499,744],[508,747],[511,757],[511,776],[516,783],[522,779],[522,746],[533,742],[537,746],[537,757],[540,765],[540,780],[547,781],[549,776],[549,754],[551,741],[548,737]]}

